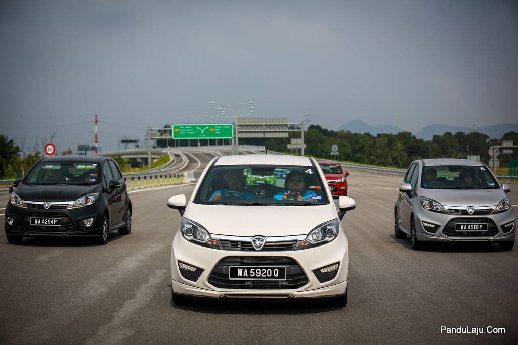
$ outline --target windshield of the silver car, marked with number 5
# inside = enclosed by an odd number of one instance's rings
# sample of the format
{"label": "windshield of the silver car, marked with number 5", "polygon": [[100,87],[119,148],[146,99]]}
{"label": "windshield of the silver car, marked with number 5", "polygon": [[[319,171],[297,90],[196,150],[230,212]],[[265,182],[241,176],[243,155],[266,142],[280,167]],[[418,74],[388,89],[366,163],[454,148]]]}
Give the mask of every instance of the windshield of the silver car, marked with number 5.
{"label": "windshield of the silver car, marked with number 5", "polygon": [[500,188],[485,167],[427,166],[423,169],[421,187],[426,189],[496,189]]}

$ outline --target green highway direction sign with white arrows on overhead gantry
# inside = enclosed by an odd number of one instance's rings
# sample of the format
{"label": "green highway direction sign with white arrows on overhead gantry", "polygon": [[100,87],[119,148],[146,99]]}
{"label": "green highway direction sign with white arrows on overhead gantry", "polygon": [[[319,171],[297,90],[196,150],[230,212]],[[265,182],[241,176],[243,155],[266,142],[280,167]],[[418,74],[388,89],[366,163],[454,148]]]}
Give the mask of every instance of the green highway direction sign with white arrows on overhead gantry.
{"label": "green highway direction sign with white arrows on overhead gantry", "polygon": [[234,124],[171,125],[172,139],[232,139]]}

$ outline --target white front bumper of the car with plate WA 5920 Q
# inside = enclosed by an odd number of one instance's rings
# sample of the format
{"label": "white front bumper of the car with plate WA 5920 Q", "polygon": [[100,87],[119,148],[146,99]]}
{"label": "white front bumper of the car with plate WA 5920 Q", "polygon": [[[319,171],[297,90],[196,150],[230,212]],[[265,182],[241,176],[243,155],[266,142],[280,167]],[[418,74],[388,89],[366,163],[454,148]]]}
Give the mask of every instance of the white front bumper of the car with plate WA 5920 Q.
{"label": "white front bumper of the car with plate WA 5920 Q", "polygon": [[[326,298],[339,296],[346,293],[347,273],[348,273],[348,251],[347,239],[343,232],[328,244],[308,248],[303,250],[286,251],[244,251],[244,250],[219,250],[198,246],[186,241],[177,232],[171,247],[171,284],[172,290],[176,294],[191,297],[229,297],[229,298]],[[286,259],[294,262],[297,268],[305,276],[299,286],[274,288],[260,286],[254,281],[242,281],[236,286],[222,284],[223,288],[214,286],[210,281],[214,281],[214,275],[220,278],[228,278],[228,273],[219,274],[226,267],[222,266],[225,260],[235,260],[242,258],[244,261],[273,262],[275,259]],[[201,274],[190,279],[188,274],[181,272],[179,262],[182,264],[196,267],[203,270]],[[319,277],[312,271],[327,267],[334,263],[339,263],[333,278],[324,282],[319,281]],[[290,271],[290,268],[288,268]],[[183,274],[182,274],[183,273]],[[320,277],[321,278],[321,277]],[[193,281],[194,280],[194,281]],[[322,279],[321,279],[322,280]],[[275,283],[274,283],[275,284]]]}

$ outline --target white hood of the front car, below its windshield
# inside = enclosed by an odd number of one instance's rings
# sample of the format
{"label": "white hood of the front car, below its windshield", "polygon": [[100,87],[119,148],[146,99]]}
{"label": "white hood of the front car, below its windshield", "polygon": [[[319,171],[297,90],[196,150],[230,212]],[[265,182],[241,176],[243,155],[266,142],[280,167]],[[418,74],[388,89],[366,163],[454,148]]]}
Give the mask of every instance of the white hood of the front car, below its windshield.
{"label": "white hood of the front car, below its windshield", "polygon": [[334,204],[304,206],[202,205],[190,203],[183,214],[209,233],[228,236],[307,235],[338,218]]}

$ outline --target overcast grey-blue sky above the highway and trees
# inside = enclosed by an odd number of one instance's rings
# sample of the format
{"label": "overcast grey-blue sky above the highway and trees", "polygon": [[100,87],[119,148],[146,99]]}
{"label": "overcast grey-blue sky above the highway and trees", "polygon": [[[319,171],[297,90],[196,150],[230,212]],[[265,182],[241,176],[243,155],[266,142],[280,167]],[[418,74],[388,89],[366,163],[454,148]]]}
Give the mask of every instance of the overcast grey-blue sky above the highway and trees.
{"label": "overcast grey-blue sky above the highway and trees", "polygon": [[513,0],[2,0],[0,50],[0,134],[24,152],[93,146],[96,114],[100,152],[231,109],[330,130],[518,123]]}

